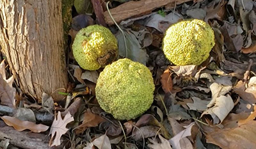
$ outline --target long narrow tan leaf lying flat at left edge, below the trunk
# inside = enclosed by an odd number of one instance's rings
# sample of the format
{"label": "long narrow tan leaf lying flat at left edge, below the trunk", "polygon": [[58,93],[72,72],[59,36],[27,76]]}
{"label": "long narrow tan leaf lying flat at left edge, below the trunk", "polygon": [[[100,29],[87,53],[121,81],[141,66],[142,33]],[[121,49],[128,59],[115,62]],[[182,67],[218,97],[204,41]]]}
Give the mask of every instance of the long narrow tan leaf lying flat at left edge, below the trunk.
{"label": "long narrow tan leaf lying flat at left edge, below the trunk", "polygon": [[42,124],[35,124],[33,122],[29,121],[21,121],[18,118],[13,118],[11,116],[2,116],[2,120],[6,123],[8,126],[12,126],[15,130],[22,131],[29,129],[32,132],[45,132],[47,129],[49,129],[48,126],[42,125]]}

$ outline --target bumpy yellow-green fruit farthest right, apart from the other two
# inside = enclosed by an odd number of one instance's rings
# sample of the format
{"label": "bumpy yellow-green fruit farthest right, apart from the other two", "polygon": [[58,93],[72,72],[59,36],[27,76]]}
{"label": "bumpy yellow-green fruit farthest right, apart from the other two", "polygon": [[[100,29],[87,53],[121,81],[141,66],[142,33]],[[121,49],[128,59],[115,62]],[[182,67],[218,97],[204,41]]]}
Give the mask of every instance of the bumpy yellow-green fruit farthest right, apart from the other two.
{"label": "bumpy yellow-green fruit farthest right, apart from the other two", "polygon": [[170,26],[163,38],[166,58],[175,65],[200,65],[214,46],[214,31],[198,19],[177,22]]}

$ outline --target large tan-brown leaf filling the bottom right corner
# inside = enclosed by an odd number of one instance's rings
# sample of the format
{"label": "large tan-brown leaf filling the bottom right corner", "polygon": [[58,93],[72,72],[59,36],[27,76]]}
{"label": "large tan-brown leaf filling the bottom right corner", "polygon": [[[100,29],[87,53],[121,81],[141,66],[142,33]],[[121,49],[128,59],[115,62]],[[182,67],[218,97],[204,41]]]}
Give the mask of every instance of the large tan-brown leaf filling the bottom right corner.
{"label": "large tan-brown leaf filling the bottom right corner", "polygon": [[[254,109],[256,108],[254,107]],[[209,127],[204,126],[204,130],[207,133],[205,135],[207,143],[213,143],[223,149],[255,148],[256,121],[253,120],[254,118],[255,111],[245,120],[237,120],[237,118],[231,120],[229,123],[224,125],[224,129],[220,129],[218,127],[210,129]],[[228,127],[230,126],[230,123],[234,123],[235,125],[232,125],[233,127],[230,128]]]}

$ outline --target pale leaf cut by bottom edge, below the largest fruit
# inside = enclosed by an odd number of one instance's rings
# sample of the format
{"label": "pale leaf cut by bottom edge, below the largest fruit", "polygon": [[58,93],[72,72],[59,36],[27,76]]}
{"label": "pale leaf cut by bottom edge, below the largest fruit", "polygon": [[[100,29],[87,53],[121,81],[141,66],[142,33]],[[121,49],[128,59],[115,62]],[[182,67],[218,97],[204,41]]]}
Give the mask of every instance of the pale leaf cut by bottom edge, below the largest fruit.
{"label": "pale leaf cut by bottom edge, below the largest fruit", "polygon": [[106,134],[94,139],[92,143],[99,149],[111,149],[111,144]]}

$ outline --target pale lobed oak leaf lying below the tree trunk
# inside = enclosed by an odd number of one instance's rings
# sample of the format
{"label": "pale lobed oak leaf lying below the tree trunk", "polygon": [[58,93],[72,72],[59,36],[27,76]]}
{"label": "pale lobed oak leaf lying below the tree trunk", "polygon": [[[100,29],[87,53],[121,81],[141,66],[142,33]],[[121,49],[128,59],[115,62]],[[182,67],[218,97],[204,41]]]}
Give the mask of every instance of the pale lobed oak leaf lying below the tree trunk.
{"label": "pale lobed oak leaf lying below the tree trunk", "polygon": [[58,114],[55,116],[51,130],[49,135],[51,134],[51,140],[49,142],[49,146],[58,146],[60,145],[60,139],[63,134],[67,132],[66,125],[70,122],[74,121],[74,118],[71,116],[71,114],[68,112],[64,119],[61,118],[61,113],[58,111]]}

